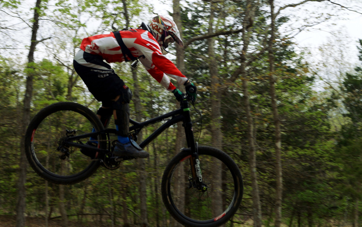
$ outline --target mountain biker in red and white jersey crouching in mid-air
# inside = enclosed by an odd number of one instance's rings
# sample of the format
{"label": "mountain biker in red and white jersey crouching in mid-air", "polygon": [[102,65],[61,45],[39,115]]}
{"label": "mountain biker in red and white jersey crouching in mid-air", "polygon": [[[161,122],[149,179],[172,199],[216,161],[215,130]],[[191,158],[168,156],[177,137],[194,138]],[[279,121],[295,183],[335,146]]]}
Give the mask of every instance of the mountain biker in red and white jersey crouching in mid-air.
{"label": "mountain biker in red and white jersey crouching in mid-air", "polygon": [[[115,156],[146,158],[149,154],[128,137],[132,92],[107,63],[139,59],[151,76],[171,91],[178,101],[182,98],[182,92],[171,83],[168,76],[176,79],[178,84],[185,85],[186,92],[195,98],[195,85],[164,55],[167,54],[165,49],[173,42],[184,46],[174,21],[161,15],[153,17],[148,25],[142,22],[137,29],[114,31],[83,39],[81,50],[73,60],[74,69],[89,92],[102,102],[97,111],[102,124],[107,127],[111,115],[114,116],[118,131],[113,152]],[[87,144],[97,146],[96,140],[91,137]],[[91,158],[98,155],[98,152],[86,149],[81,149],[81,152]]]}

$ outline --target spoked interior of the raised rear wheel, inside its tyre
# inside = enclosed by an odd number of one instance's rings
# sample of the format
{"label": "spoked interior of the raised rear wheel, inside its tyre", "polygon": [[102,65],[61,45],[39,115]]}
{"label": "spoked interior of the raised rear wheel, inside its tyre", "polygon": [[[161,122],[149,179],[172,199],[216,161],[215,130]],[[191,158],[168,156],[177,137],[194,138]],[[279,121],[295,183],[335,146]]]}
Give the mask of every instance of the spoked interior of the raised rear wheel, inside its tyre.
{"label": "spoked interior of the raised rear wheel, inside its tyre", "polygon": [[[80,148],[67,146],[63,141],[68,137],[67,130],[81,133],[87,130],[91,132],[92,128],[92,123],[76,112],[64,110],[49,114],[34,133],[34,156],[45,169],[54,174],[70,176],[81,172],[92,160],[82,154]],[[88,140],[84,138],[77,142],[85,144]],[[47,167],[49,163],[51,167]]]}

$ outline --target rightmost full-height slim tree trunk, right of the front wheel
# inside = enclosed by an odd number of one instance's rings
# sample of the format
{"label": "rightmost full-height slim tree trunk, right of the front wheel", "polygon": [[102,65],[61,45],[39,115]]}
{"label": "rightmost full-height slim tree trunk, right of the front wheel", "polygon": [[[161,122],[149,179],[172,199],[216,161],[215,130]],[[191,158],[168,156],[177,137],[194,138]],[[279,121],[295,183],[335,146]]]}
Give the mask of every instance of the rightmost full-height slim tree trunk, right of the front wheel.
{"label": "rightmost full-height slim tree trunk, right of the front wheel", "polygon": [[274,0],[269,0],[271,12],[271,30],[270,39],[268,44],[269,53],[269,70],[270,70],[270,98],[271,108],[274,115],[275,127],[275,171],[276,171],[276,197],[275,197],[275,227],[280,227],[282,223],[282,193],[283,193],[283,179],[282,179],[282,159],[281,159],[281,130],[280,120],[277,107],[277,95],[275,93],[275,59],[274,59],[274,40],[275,40],[275,14],[274,14]]}

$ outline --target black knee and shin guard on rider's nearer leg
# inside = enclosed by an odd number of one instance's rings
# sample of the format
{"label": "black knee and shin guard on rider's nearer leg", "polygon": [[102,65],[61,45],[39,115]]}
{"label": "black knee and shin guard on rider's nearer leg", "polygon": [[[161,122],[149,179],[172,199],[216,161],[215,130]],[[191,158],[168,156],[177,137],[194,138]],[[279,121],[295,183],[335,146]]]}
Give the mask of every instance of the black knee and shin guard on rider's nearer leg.
{"label": "black knee and shin guard on rider's nearer leg", "polygon": [[120,136],[128,136],[130,124],[130,105],[122,103],[121,98],[113,102],[113,109],[115,110],[116,118],[114,123],[118,126],[118,133]]}

